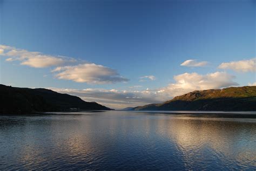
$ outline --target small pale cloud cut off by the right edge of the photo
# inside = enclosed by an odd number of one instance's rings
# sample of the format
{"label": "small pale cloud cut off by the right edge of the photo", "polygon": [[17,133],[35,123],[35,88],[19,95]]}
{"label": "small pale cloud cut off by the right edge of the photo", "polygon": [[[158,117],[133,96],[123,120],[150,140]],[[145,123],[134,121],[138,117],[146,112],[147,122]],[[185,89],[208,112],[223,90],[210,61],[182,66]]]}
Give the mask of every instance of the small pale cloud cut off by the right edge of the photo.
{"label": "small pale cloud cut off by the right edge of the photo", "polygon": [[256,72],[256,58],[222,63],[219,65],[219,69],[230,69],[237,72]]}

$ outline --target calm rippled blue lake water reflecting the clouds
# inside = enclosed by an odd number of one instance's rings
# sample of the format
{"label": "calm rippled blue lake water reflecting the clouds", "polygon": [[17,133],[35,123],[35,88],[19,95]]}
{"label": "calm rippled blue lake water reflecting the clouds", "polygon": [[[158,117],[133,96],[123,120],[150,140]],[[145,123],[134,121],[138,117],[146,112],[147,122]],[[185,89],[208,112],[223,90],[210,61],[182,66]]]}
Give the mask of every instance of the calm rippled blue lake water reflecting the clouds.
{"label": "calm rippled blue lake water reflecting the clouds", "polygon": [[0,116],[0,170],[256,169],[256,119],[73,114]]}

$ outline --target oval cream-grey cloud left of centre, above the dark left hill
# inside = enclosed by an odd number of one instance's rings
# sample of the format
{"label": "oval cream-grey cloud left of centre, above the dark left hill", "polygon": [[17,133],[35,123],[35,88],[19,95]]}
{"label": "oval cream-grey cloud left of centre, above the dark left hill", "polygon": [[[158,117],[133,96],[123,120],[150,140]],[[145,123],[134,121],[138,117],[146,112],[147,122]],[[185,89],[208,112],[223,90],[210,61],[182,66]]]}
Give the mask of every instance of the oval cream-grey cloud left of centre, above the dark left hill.
{"label": "oval cream-grey cloud left of centre, above the dark left hill", "polygon": [[52,72],[56,73],[55,77],[58,79],[72,80],[78,83],[110,84],[129,81],[129,79],[119,76],[116,70],[96,64],[57,67]]}

